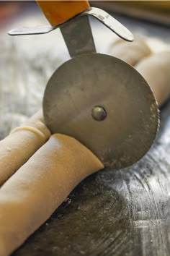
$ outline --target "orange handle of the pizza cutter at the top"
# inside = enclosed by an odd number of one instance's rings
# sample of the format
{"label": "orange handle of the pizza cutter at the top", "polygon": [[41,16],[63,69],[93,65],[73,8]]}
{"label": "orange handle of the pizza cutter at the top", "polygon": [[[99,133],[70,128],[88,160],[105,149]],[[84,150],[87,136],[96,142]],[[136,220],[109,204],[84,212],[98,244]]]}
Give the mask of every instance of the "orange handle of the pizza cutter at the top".
{"label": "orange handle of the pizza cutter at the top", "polygon": [[59,25],[89,8],[89,1],[37,1],[51,25]]}

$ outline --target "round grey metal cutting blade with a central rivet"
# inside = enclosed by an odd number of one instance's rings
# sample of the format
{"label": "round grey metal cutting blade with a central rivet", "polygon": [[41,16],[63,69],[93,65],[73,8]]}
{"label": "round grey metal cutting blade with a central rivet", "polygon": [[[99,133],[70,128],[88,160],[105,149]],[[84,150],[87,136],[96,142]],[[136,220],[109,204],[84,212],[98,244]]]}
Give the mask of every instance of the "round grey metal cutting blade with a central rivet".
{"label": "round grey metal cutting blade with a central rivet", "polygon": [[52,133],[75,137],[112,168],[142,158],[158,129],[157,103],[146,80],[104,54],[76,56],[59,67],[45,90],[43,111]]}

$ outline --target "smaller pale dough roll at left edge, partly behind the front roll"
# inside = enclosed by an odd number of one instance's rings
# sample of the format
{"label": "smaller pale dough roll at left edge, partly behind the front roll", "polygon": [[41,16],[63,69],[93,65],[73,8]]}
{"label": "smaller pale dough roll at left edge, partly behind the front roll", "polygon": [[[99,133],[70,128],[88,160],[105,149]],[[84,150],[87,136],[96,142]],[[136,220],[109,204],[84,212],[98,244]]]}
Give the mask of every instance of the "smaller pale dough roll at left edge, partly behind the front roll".
{"label": "smaller pale dough roll at left edge, partly behind the front roll", "polygon": [[42,111],[0,141],[0,186],[50,137]]}

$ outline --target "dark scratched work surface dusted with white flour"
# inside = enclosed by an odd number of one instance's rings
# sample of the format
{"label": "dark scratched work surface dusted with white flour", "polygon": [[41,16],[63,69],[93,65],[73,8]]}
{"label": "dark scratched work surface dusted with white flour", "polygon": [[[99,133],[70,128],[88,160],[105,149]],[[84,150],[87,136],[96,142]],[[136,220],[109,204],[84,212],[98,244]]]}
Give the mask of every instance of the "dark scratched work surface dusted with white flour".
{"label": "dark scratched work surface dusted with white flour", "polygon": [[[45,22],[36,12],[14,25]],[[169,46],[169,30],[119,17],[135,34]],[[37,22],[37,23],[36,23]],[[0,137],[40,108],[45,84],[68,59],[59,32],[0,37]],[[97,49],[107,52],[112,33],[93,23]],[[107,40],[106,40],[107,38]],[[170,102],[161,110],[153,148],[135,166],[99,171],[81,182],[53,216],[13,256],[170,255]]]}

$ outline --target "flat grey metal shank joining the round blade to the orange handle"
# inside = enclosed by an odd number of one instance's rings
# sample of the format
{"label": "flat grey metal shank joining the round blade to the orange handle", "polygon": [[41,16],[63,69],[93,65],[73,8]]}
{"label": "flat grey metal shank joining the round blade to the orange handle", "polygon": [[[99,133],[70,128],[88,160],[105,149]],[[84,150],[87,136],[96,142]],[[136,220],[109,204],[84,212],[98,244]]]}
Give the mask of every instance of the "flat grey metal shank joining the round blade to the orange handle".
{"label": "flat grey metal shank joining the round blade to the orange handle", "polygon": [[70,56],[96,52],[87,15],[77,16],[61,25],[61,33]]}

